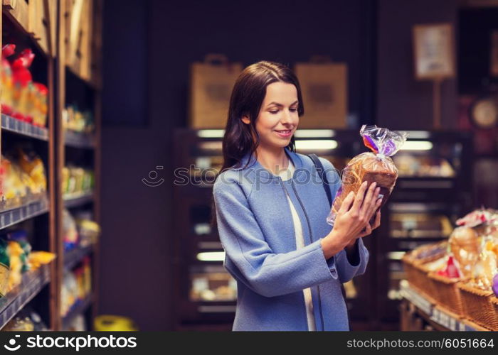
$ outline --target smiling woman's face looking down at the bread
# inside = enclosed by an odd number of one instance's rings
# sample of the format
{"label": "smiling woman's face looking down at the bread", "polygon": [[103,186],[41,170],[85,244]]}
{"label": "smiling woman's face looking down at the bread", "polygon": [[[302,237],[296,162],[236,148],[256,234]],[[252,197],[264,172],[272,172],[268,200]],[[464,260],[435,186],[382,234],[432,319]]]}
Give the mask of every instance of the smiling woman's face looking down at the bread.
{"label": "smiling woman's face looking down at the bread", "polygon": [[[260,145],[269,148],[284,148],[299,124],[297,114],[297,89],[287,82],[272,82],[266,87],[266,95],[256,119],[256,131],[260,136]],[[249,124],[249,118],[243,117]]]}

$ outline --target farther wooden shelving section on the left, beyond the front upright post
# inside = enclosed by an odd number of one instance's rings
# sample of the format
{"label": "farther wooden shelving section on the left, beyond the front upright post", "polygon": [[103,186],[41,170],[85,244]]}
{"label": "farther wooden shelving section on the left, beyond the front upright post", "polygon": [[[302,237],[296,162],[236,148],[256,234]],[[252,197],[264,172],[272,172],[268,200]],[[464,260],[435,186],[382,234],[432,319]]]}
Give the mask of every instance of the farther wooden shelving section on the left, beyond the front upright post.
{"label": "farther wooden shelving section on the left, beyond the front upright post", "polygon": [[[55,65],[57,78],[56,131],[58,136],[57,171],[58,191],[62,188],[62,170],[68,160],[91,168],[95,174],[92,194],[80,196],[57,196],[57,215],[62,221],[63,209],[91,209],[93,219],[100,224],[100,37],[102,3],[92,1],[60,1],[58,7],[58,60]],[[63,109],[67,104],[76,102],[79,107],[90,109],[95,118],[95,131],[92,134],[65,130]],[[58,235],[62,236],[62,224],[58,223]],[[58,327],[66,329],[71,319],[84,314],[88,329],[92,329],[92,319],[97,315],[98,300],[98,258],[99,244],[85,249],[75,249],[64,253],[63,244],[58,244],[60,278],[64,268],[73,268],[84,256],[92,258],[92,294],[71,310],[70,315],[58,320]],[[58,285],[60,287],[60,284]],[[84,306],[84,307],[83,307]]]}

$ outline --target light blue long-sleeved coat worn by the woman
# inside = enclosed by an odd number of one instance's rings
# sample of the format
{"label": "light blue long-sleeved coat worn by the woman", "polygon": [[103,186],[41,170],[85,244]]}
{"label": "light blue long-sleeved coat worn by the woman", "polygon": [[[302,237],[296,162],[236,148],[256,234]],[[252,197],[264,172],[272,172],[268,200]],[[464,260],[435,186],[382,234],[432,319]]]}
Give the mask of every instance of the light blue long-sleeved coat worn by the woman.
{"label": "light blue long-sleeved coat worn by the woman", "polygon": [[[307,155],[285,152],[296,169],[290,180],[246,155],[240,168],[224,171],[213,186],[224,266],[238,287],[233,330],[307,330],[304,288],[312,290],[317,330],[349,330],[341,283],[365,272],[369,252],[358,239],[353,264],[344,250],[325,259],[320,239],[332,226],[322,180]],[[335,196],[339,174],[320,160]],[[286,191],[302,224],[305,246],[299,250]]]}

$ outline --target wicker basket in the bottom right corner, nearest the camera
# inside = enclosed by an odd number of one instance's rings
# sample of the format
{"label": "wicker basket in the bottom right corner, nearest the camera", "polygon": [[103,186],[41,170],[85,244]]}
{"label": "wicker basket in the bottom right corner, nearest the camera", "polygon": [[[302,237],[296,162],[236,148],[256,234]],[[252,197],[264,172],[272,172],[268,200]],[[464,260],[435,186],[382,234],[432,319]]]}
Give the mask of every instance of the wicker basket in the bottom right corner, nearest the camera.
{"label": "wicker basket in the bottom right corner, nearest the camera", "polygon": [[475,288],[468,283],[459,283],[465,317],[482,327],[498,330],[498,301],[491,291]]}

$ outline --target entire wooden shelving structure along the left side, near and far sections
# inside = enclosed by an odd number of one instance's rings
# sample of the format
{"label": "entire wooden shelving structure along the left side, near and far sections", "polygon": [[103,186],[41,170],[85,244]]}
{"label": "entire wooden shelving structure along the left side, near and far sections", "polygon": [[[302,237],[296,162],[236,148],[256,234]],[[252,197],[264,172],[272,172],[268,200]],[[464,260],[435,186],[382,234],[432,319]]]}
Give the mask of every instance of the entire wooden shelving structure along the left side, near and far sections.
{"label": "entire wooden shelving structure along the left side, near and far sections", "polygon": [[[48,194],[46,200],[16,208],[5,209],[0,204],[0,229],[33,219],[36,245],[57,257],[49,265],[23,274],[22,283],[0,298],[0,329],[35,299],[36,310],[49,329],[67,326],[70,319],[60,315],[63,273],[86,256],[92,261],[92,294],[84,300],[84,307],[80,302],[71,311],[70,317],[85,313],[87,327],[92,329],[92,318],[97,314],[99,245],[64,253],[62,222],[64,208],[85,208],[92,210],[95,222],[100,224],[101,21],[102,0],[2,1],[3,44],[16,44],[16,53],[23,48],[35,53],[36,67],[33,64],[31,69],[33,79],[37,76],[36,81],[48,87],[48,118],[47,126],[42,128],[1,114],[1,151],[16,141],[32,142],[45,165]],[[82,89],[79,92],[74,87]],[[82,107],[93,112],[92,135],[64,131],[63,109],[68,104],[68,92],[73,102],[80,100]],[[68,155],[73,156],[73,163],[93,170],[95,185],[91,195],[63,197],[62,169]]]}

